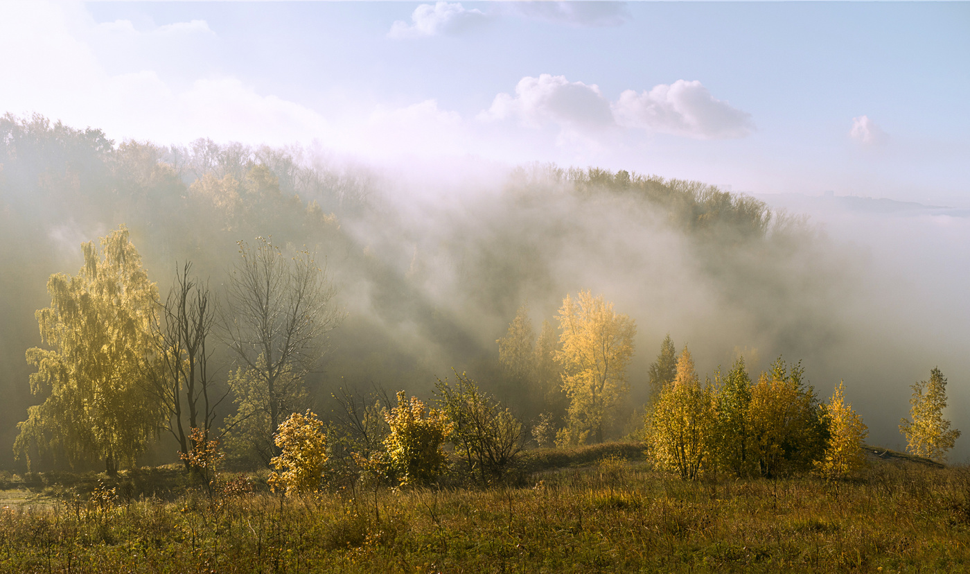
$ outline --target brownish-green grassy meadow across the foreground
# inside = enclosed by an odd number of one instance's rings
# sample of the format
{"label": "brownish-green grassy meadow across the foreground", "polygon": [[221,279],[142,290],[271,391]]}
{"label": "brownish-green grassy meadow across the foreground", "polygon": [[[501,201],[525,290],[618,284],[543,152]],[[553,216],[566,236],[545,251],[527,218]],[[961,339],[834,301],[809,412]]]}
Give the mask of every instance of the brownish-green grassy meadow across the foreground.
{"label": "brownish-green grassy meadow across the foreground", "polygon": [[210,498],[175,469],[8,490],[0,572],[970,570],[970,469],[897,456],[853,482],[684,483],[635,453],[533,453],[485,490]]}

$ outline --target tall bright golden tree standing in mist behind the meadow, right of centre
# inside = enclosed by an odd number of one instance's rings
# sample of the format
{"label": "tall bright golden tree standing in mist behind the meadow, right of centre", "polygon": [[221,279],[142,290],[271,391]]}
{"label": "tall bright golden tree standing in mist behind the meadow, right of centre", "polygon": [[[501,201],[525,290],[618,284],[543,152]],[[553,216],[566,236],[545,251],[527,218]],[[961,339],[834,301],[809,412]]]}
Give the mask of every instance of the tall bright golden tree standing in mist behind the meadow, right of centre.
{"label": "tall bright golden tree standing in mist behind the meadow, right of centre", "polygon": [[633,355],[636,325],[613,311],[613,304],[580,291],[559,310],[560,343],[556,360],[563,367],[563,390],[569,398],[566,428],[557,444],[602,442],[603,430],[617,400],[629,391],[627,364]]}

